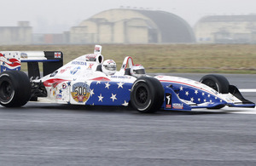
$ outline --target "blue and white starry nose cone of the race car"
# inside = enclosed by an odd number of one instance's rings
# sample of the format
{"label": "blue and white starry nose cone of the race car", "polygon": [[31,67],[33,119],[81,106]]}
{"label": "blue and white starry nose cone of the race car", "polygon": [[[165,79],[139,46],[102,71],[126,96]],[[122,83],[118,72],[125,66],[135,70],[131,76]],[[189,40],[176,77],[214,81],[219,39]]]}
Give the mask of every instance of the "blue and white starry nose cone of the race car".
{"label": "blue and white starry nose cone of the race car", "polygon": [[227,104],[226,97],[203,83],[183,77],[157,76],[157,78],[166,87],[166,90],[171,90],[172,98],[176,98],[176,101],[172,100],[172,106],[169,106],[171,109],[180,110],[183,109],[183,106],[188,105],[187,110],[190,110]]}

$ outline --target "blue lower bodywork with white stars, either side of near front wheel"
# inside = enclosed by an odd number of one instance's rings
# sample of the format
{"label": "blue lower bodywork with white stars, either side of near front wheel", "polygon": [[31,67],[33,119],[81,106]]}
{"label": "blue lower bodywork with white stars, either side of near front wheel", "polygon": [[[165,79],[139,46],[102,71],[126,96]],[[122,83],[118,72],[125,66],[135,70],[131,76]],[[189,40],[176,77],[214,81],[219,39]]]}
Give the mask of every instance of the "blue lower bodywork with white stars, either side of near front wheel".
{"label": "blue lower bodywork with white stars, either side of near front wheel", "polygon": [[[94,81],[90,83],[90,106],[128,106],[131,100],[132,83]],[[161,82],[165,90],[165,100],[161,106],[164,110],[190,111],[193,108],[213,108],[217,106],[253,107],[254,104],[230,104],[217,96],[201,89],[180,83]],[[182,99],[182,100],[181,100]],[[187,101],[187,102],[185,102]],[[188,104],[188,101],[191,101]],[[193,104],[191,104],[193,102]]]}

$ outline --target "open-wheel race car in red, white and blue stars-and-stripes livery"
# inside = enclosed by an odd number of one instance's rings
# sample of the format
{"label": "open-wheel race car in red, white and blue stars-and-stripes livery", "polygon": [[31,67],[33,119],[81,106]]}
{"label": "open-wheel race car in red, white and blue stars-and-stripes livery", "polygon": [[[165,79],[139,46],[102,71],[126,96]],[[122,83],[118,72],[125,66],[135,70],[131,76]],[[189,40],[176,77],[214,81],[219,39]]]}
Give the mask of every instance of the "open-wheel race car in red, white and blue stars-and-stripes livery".
{"label": "open-wheel race car in red, white and blue stars-and-stripes livery", "polygon": [[[255,106],[222,75],[206,75],[199,82],[150,77],[130,56],[117,71],[114,60],[104,60],[101,45],[96,45],[93,54],[79,56],[64,66],[60,51],[5,51],[0,60],[0,104],[6,107],[24,106],[38,98],[68,105],[132,106],[138,112]],[[20,72],[20,62],[28,63],[28,76]],[[43,62],[43,77],[38,62]]]}

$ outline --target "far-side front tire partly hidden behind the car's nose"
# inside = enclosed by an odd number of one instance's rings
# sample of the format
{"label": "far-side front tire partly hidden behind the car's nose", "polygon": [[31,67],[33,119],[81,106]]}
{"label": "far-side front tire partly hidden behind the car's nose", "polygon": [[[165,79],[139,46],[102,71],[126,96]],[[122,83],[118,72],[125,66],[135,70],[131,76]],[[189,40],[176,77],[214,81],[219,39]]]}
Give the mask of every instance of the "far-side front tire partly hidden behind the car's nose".
{"label": "far-side front tire partly hidden behind the car's nose", "polygon": [[209,74],[201,78],[201,83],[221,94],[229,94],[230,83],[226,77],[218,74]]}

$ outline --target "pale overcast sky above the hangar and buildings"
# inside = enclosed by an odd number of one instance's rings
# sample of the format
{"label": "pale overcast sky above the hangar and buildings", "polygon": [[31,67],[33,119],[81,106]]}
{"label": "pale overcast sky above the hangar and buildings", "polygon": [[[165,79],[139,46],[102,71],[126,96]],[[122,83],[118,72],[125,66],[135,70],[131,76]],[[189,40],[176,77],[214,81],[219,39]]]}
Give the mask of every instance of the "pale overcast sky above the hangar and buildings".
{"label": "pale overcast sky above the hangar and buildings", "polygon": [[205,15],[256,14],[256,0],[0,0],[0,26],[30,21],[34,33],[61,33],[108,9],[143,8],[177,14],[190,26]]}

